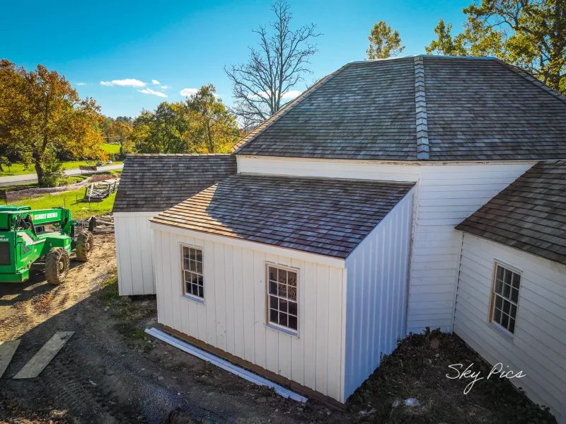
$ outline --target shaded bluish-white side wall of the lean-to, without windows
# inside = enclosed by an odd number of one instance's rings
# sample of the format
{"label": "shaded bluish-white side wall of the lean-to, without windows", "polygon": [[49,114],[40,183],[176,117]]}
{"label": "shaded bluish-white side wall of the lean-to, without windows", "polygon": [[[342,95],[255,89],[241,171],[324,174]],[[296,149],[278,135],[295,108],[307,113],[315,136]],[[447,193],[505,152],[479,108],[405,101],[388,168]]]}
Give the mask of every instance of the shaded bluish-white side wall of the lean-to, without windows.
{"label": "shaded bluish-white side wall of the lean-to, without windows", "polygon": [[350,253],[347,268],[345,397],[406,334],[411,190]]}

